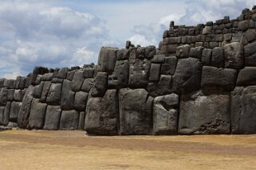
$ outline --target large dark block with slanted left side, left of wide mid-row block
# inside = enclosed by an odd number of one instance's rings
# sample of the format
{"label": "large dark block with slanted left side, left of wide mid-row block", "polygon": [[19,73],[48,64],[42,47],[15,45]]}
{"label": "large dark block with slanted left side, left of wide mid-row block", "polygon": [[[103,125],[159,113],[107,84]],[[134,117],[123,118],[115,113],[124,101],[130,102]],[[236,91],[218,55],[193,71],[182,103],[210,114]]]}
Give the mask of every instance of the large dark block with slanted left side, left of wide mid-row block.
{"label": "large dark block with slanted left side, left of wide mid-row block", "polygon": [[177,93],[196,91],[200,88],[202,64],[198,59],[178,60],[175,74],[172,77],[172,89]]}

